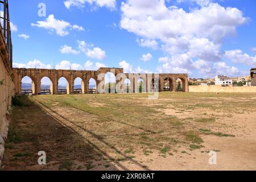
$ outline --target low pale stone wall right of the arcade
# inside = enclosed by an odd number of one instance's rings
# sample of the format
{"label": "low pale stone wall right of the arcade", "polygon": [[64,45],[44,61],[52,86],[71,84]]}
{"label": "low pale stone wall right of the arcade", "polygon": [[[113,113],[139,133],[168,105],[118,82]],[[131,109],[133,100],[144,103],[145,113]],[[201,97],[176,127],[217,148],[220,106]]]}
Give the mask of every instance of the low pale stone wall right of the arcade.
{"label": "low pale stone wall right of the arcade", "polygon": [[189,86],[189,92],[256,93],[256,86],[199,85],[199,86]]}

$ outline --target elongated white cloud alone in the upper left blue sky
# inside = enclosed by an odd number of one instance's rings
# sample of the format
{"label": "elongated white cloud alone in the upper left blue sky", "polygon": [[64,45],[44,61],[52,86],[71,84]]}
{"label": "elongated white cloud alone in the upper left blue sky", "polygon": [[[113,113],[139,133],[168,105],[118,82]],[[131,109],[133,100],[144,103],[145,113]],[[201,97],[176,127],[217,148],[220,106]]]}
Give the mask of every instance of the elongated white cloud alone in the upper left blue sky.
{"label": "elongated white cloud alone in the upper left blue sky", "polygon": [[73,30],[82,31],[83,27],[78,25],[71,25],[69,22],[65,22],[64,20],[55,19],[54,15],[49,15],[45,21],[38,21],[36,23],[31,23],[32,27],[40,27],[50,30],[51,32],[56,32],[59,36],[66,36],[69,34],[68,28]]}

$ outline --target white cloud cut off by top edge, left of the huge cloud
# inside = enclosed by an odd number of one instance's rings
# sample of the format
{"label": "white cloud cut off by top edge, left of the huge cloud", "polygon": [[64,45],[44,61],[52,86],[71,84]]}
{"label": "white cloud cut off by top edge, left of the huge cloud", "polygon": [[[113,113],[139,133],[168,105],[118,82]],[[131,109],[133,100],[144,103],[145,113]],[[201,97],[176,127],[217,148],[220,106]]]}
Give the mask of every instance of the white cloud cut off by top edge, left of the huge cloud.
{"label": "white cloud cut off by top edge, left of the huge cloud", "polygon": [[78,8],[83,8],[85,3],[89,3],[90,5],[96,5],[99,7],[107,7],[109,9],[115,9],[116,2],[115,0],[67,0],[64,1],[65,7],[70,9],[71,6],[76,6]]}

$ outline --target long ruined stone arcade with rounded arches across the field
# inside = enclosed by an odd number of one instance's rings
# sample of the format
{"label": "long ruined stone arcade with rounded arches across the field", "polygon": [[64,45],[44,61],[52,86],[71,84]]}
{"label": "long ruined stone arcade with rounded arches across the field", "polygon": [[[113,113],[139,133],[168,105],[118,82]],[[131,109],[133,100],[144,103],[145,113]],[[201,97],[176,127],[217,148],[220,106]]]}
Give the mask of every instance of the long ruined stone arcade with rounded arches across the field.
{"label": "long ruined stone arcade with rounded arches across the field", "polygon": [[[41,80],[43,77],[48,77],[51,80],[51,94],[58,93],[58,81],[61,77],[64,77],[67,84],[67,93],[74,93],[74,82],[76,78],[81,78],[82,80],[82,93],[86,94],[89,90],[89,80],[93,78],[96,81],[96,86],[100,84],[104,78],[100,77],[102,73],[105,75],[106,73],[113,73],[116,76],[116,84],[119,82],[124,82],[123,78],[119,78],[118,75],[123,73],[123,68],[100,68],[98,71],[72,71],[72,70],[55,70],[55,69],[24,69],[24,68],[14,68],[14,82],[15,82],[15,93],[22,93],[22,78],[28,76],[32,80],[32,93],[40,94],[41,92]],[[133,85],[132,92],[135,93],[137,89],[138,79],[143,80],[144,92],[151,92],[148,89],[148,85],[154,84],[154,74],[153,78],[149,77],[148,74],[129,74],[123,73]],[[159,91],[162,92],[164,90],[164,85],[168,84],[168,90],[171,92],[176,91],[177,82],[176,80],[180,79],[180,85],[183,92],[188,92],[188,75],[187,74],[159,74]],[[123,87],[123,84],[122,84]],[[122,89],[122,88],[121,88]]]}

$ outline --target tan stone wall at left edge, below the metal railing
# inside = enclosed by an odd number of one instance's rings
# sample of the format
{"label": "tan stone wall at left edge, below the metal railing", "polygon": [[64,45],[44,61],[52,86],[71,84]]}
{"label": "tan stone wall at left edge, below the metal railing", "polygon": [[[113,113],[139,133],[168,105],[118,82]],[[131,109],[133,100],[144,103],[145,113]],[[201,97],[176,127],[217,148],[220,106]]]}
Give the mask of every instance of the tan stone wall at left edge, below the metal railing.
{"label": "tan stone wall at left edge, below the metal railing", "polygon": [[9,55],[0,35],[0,167],[5,151],[4,145],[7,138],[9,118],[7,113],[11,106],[11,98],[14,95],[14,82]]}

